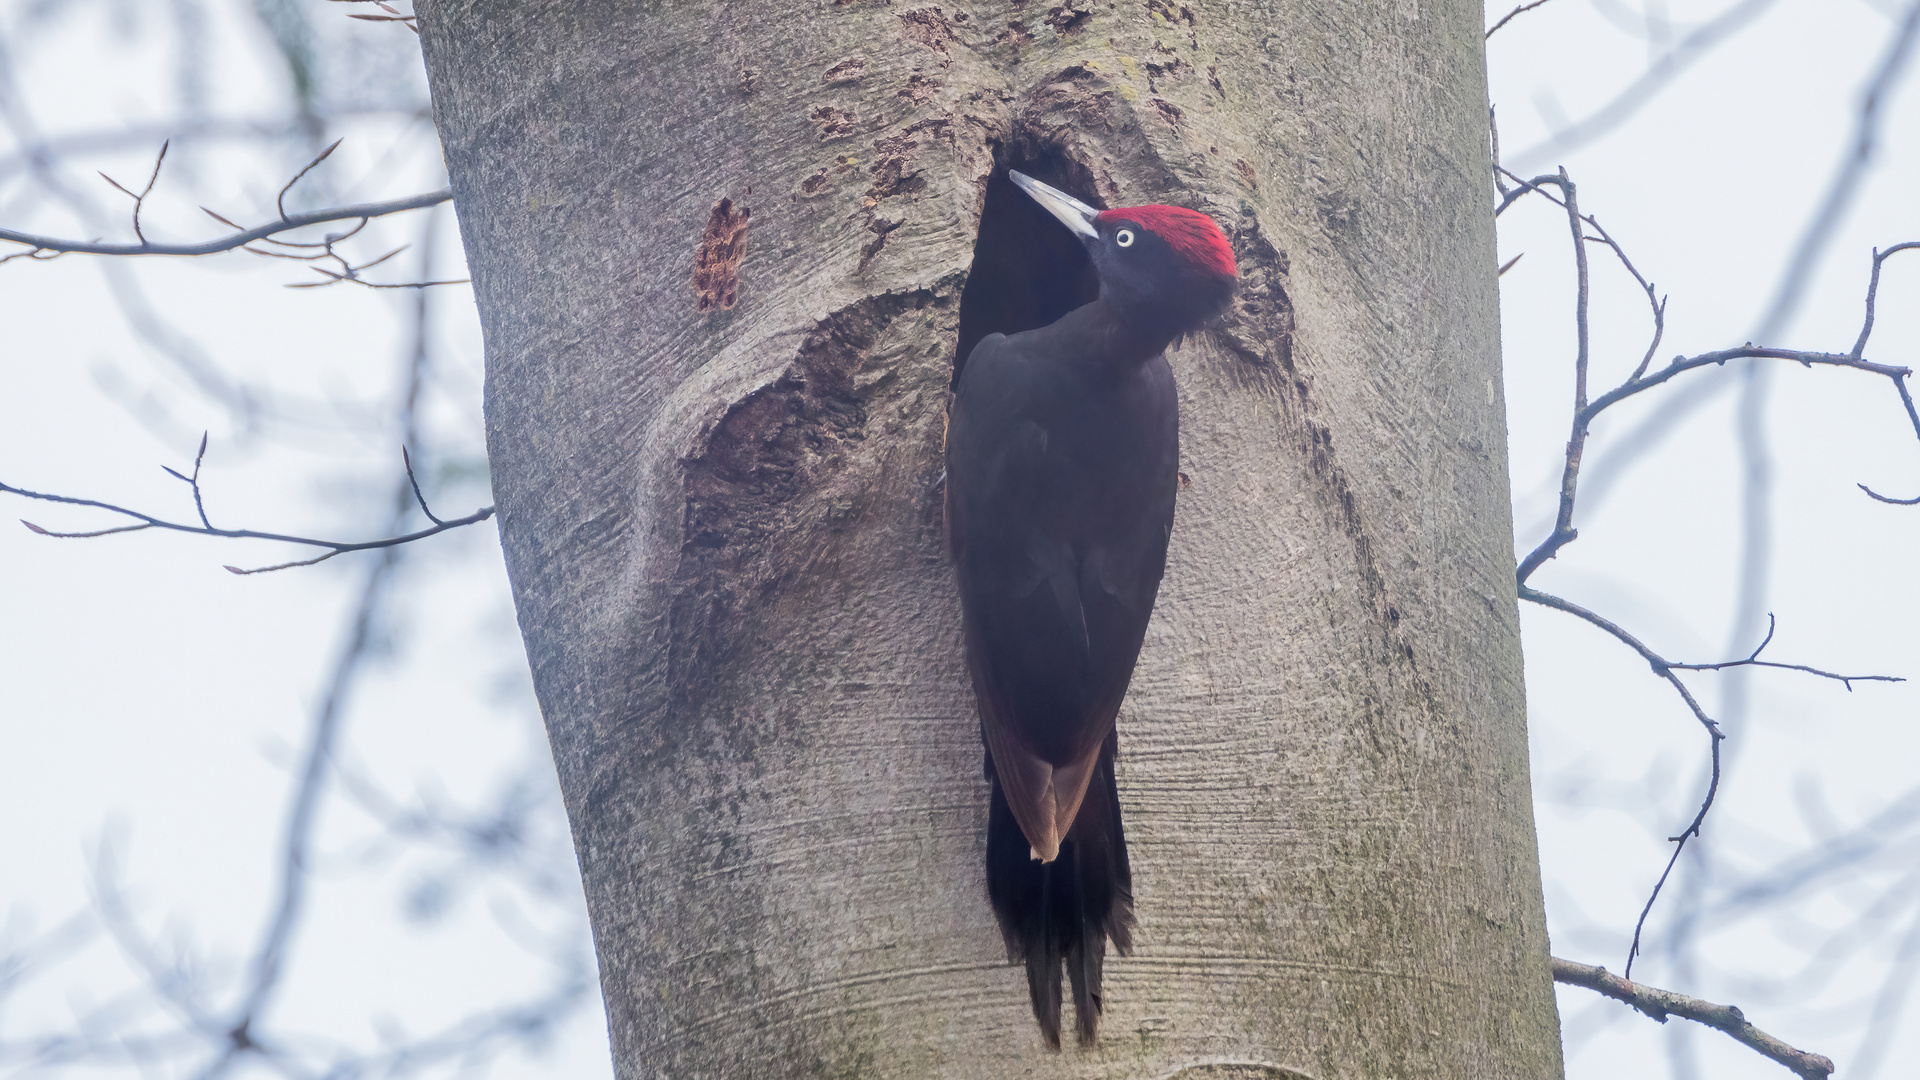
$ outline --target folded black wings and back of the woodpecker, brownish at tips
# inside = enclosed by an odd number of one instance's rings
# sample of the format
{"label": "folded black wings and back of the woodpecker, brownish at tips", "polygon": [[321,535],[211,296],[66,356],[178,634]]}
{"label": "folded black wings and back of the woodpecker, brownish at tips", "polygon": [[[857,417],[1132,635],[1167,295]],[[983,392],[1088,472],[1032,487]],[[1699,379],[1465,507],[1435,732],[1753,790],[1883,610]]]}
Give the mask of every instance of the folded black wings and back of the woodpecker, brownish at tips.
{"label": "folded black wings and back of the woodpecker, brownish at tips", "polygon": [[1044,346],[1046,331],[995,334],[968,357],[947,436],[947,530],[981,730],[1014,819],[1050,861],[1146,636],[1177,421],[1164,359],[1089,380]]}

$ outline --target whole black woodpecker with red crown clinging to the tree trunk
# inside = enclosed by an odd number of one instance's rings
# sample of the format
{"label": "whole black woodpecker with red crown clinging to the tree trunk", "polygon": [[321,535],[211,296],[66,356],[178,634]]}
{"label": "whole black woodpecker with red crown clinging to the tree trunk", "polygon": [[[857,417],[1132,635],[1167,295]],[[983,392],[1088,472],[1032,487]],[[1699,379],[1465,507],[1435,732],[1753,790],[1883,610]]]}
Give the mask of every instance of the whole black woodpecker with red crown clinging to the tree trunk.
{"label": "whole black woodpecker with red crown clinging to the tree trunk", "polygon": [[1081,238],[1100,296],[973,346],[947,430],[947,544],[993,788],[987,896],[1058,1049],[1062,967],[1092,1045],[1106,942],[1133,945],[1114,717],[1173,528],[1165,350],[1227,306],[1236,269],[1194,209],[1102,211],[1012,181]]}

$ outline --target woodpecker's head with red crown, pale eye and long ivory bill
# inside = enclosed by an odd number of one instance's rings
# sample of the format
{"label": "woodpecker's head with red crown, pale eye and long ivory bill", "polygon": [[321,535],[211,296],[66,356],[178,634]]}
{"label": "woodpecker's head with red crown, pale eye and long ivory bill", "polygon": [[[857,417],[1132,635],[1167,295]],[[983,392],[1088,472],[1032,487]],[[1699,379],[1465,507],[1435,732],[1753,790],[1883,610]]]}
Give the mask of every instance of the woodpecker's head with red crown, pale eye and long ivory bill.
{"label": "woodpecker's head with red crown, pale eye and long ivory bill", "polygon": [[1100,298],[1144,331],[1177,338],[1233,298],[1238,273],[1233,246],[1198,209],[1158,204],[1094,209],[1025,173],[1008,175],[1081,238],[1100,275]]}

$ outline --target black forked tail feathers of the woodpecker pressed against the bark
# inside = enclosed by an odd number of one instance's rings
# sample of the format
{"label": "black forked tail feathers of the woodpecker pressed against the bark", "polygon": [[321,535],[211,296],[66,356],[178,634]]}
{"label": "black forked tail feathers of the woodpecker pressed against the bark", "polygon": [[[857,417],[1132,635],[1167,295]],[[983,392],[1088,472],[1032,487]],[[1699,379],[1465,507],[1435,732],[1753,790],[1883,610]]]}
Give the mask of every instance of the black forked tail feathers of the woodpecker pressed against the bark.
{"label": "black forked tail feathers of the woodpecker pressed against the bark", "polygon": [[1119,788],[1108,734],[1100,763],[1060,857],[1041,863],[1014,821],[987,755],[993,807],[987,811],[987,897],[1006,938],[1006,955],[1027,963],[1033,1017],[1046,1043],[1060,1049],[1060,969],[1073,986],[1079,1043],[1100,1028],[1100,967],[1112,938],[1119,955],[1133,951],[1133,871],[1119,828]]}

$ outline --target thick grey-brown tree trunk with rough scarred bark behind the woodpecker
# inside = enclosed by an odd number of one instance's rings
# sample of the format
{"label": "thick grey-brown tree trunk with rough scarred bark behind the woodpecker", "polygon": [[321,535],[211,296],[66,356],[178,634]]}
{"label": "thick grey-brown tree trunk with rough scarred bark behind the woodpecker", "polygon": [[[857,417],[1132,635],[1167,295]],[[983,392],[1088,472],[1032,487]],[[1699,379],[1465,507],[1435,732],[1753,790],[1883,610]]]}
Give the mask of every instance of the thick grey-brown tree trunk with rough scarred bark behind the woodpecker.
{"label": "thick grey-brown tree trunk with rough scarred bark behind the woodpecker", "polygon": [[[622,1078],[1559,1074],[1478,4],[419,12]],[[987,907],[941,534],[956,342],[1073,292],[1006,165],[1240,261],[1091,1053]]]}

